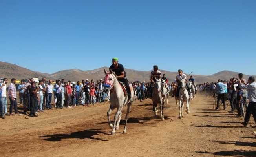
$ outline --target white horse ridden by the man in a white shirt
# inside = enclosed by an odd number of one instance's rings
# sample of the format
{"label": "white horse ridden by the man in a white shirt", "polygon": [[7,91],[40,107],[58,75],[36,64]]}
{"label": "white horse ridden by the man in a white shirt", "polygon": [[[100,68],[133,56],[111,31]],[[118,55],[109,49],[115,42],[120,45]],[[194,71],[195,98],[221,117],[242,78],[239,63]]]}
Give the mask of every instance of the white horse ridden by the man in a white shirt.
{"label": "white horse ridden by the man in a white shirt", "polygon": [[180,81],[181,84],[181,89],[179,90],[179,118],[181,119],[181,117],[183,117],[183,106],[184,106],[184,101],[187,102],[187,113],[189,114],[189,103],[190,103],[190,99],[189,99],[189,95],[188,95],[188,91],[186,89],[186,80],[185,79],[181,79]]}

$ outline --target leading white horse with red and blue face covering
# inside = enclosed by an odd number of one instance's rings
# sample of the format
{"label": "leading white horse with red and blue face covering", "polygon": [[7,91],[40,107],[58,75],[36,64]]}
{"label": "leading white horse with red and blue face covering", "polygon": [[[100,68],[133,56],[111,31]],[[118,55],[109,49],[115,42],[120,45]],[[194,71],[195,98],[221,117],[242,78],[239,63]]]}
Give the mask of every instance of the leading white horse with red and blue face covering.
{"label": "leading white horse with red and blue face covering", "polygon": [[[126,93],[126,95],[124,94],[123,88],[122,86],[119,84],[117,78],[115,77],[115,73],[113,73],[110,70],[110,73],[107,73],[106,70],[104,70],[106,76],[104,78],[105,80],[105,84],[104,86],[109,86],[110,87],[110,108],[107,112],[107,116],[108,116],[108,125],[110,126],[110,128],[113,128],[111,135],[115,135],[115,130],[119,130],[119,123],[121,120],[121,116],[122,116],[122,109],[125,105],[127,105],[127,112],[125,115],[125,126],[124,126],[124,132],[123,133],[127,133],[127,120],[128,120],[128,114],[131,111],[131,105],[132,102],[128,99],[128,94]],[[131,90],[131,96],[132,98],[134,97],[134,91],[132,86],[130,86],[130,90]],[[117,113],[115,113],[115,117],[114,117],[114,125],[110,122],[110,113],[112,112],[112,110],[114,110],[115,108],[117,108]]]}

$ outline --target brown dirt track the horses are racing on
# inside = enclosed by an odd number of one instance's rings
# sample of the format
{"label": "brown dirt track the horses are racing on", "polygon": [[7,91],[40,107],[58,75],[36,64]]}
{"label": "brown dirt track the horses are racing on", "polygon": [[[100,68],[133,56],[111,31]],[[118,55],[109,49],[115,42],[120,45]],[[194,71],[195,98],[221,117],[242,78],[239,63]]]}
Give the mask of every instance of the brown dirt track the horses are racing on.
{"label": "brown dirt track the horses are racing on", "polygon": [[174,99],[169,100],[165,104],[165,121],[154,116],[149,99],[136,101],[127,134],[122,133],[124,108],[120,130],[114,136],[106,123],[108,104],[46,110],[29,119],[25,115],[8,116],[0,120],[0,154],[2,157],[256,157],[256,139],[252,135],[256,130],[242,127],[242,119],[227,110],[212,110],[212,98],[192,100],[191,113],[185,113],[183,119],[177,118]]}

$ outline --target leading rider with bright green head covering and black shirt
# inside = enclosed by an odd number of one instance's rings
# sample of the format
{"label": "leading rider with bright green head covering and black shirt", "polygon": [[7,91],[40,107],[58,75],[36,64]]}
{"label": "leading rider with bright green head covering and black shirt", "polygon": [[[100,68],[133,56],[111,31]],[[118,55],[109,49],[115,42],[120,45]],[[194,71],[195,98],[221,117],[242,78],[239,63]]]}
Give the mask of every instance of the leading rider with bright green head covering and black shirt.
{"label": "leading rider with bright green head covering and black shirt", "polygon": [[113,72],[115,72],[115,75],[116,75],[118,81],[124,83],[126,91],[128,93],[128,99],[132,102],[133,99],[131,97],[131,90],[130,90],[128,79],[126,77],[126,73],[124,71],[124,66],[122,64],[118,63],[117,57],[112,58],[112,65],[109,67],[109,69],[111,69]]}

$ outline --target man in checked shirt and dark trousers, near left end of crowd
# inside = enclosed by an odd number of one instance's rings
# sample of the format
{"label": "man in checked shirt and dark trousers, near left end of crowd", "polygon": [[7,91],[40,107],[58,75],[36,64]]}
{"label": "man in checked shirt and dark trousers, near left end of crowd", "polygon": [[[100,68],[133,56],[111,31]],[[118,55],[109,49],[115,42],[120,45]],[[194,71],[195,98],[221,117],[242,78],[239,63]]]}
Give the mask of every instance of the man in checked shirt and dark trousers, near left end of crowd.
{"label": "man in checked shirt and dark trousers, near left end of crowd", "polygon": [[15,110],[15,114],[20,114],[18,113],[18,108],[17,108],[17,91],[16,91],[16,86],[15,86],[15,81],[16,79],[12,78],[11,79],[11,84],[8,87],[8,93],[9,93],[9,99],[10,99],[10,115],[13,115],[13,107]]}

